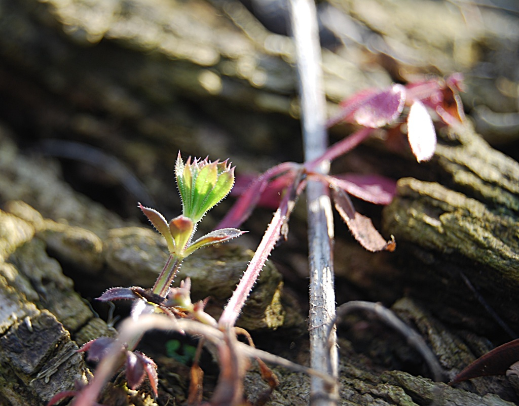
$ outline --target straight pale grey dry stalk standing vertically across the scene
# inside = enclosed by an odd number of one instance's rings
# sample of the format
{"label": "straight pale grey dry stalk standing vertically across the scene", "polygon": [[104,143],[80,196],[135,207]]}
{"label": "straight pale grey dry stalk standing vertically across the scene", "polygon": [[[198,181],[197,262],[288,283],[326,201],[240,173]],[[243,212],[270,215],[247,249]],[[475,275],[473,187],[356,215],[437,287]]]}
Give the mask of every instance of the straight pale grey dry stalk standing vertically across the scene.
{"label": "straight pale grey dry stalk standing vertically across the scene", "polygon": [[[322,155],[327,146],[325,98],[322,91],[321,48],[317,13],[312,0],[291,0],[292,33],[296,46],[299,94],[305,161]],[[316,172],[327,173],[330,161]],[[308,248],[310,267],[310,365],[337,377],[335,334],[335,292],[332,262],[333,218],[329,189],[318,181],[308,181]],[[337,385],[330,387],[312,377],[312,406],[337,403]]]}

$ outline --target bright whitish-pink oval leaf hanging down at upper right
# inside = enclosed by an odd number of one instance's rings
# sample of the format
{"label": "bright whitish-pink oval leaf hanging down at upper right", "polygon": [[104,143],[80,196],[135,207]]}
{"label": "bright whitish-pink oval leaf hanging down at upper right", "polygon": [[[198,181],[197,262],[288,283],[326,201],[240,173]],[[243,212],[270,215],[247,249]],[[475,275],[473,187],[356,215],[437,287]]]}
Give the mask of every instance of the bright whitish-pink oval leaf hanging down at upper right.
{"label": "bright whitish-pink oval leaf hanging down at upper right", "polygon": [[407,138],[418,162],[427,161],[436,149],[436,132],[431,116],[419,101],[413,102],[407,116]]}

